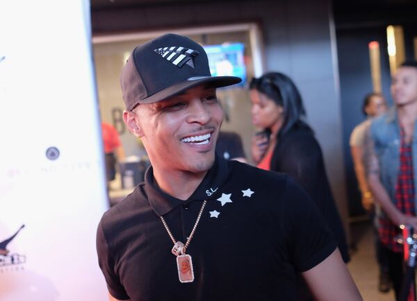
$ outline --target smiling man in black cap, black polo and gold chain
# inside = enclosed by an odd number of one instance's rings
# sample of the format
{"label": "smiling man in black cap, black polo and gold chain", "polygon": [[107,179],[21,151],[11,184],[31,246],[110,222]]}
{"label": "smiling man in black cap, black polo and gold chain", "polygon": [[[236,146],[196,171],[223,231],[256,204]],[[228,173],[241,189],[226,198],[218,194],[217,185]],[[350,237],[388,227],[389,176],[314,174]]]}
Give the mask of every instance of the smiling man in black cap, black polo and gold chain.
{"label": "smiling man in black cap, black polo and gold chain", "polygon": [[286,175],[215,155],[223,112],[202,46],[167,34],[122,71],[124,122],[152,166],[97,230],[111,300],[361,300],[306,193]]}

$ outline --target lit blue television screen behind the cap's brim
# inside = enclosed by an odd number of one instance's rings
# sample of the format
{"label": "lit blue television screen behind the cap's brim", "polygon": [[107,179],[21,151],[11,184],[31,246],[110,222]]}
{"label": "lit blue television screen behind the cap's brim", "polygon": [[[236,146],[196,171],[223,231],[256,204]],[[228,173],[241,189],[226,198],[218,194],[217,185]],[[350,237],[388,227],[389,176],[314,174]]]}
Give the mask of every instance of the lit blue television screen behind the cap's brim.
{"label": "lit blue television screen behind the cap's brim", "polygon": [[243,43],[224,43],[203,46],[208,56],[212,76],[238,76],[242,82],[232,87],[245,86],[246,66]]}

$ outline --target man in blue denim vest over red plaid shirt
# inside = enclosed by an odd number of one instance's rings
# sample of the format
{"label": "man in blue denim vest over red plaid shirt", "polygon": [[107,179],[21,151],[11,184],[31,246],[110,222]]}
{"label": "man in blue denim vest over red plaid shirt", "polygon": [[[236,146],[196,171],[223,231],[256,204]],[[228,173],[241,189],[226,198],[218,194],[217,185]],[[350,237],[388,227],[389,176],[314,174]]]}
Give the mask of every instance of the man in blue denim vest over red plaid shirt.
{"label": "man in blue denim vest over red plaid shirt", "polygon": [[389,254],[389,273],[398,300],[402,285],[403,246],[397,243],[400,225],[417,229],[417,62],[404,62],[391,83],[395,103],[368,130],[365,162],[368,183],[379,212],[379,241]]}

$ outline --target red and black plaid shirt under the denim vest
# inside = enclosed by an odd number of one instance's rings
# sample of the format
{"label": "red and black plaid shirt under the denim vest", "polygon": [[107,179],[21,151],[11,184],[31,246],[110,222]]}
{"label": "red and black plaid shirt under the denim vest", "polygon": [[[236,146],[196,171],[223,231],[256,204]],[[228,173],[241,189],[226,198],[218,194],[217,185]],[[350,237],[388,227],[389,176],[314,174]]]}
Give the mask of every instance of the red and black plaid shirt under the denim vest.
{"label": "red and black plaid shirt under the denim vest", "polygon": [[[395,207],[408,216],[414,216],[413,180],[411,143],[407,144],[405,142],[404,130],[401,128],[400,173],[398,174],[397,184],[395,185]],[[400,235],[400,228],[392,223],[389,218],[379,218],[379,239],[384,246],[393,252],[402,252],[402,245],[395,241]]]}

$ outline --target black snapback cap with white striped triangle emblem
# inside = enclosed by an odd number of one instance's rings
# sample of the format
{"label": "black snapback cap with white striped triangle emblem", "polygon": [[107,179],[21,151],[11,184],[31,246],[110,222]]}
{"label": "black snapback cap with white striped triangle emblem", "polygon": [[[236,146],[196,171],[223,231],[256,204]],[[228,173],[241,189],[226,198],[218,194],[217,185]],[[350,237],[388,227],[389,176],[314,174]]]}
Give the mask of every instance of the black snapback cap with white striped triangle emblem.
{"label": "black snapback cap with white striped triangle emblem", "polygon": [[240,81],[236,76],[211,76],[203,47],[172,33],[133,49],[120,76],[126,110],[139,103],[163,101],[204,83],[225,87]]}

